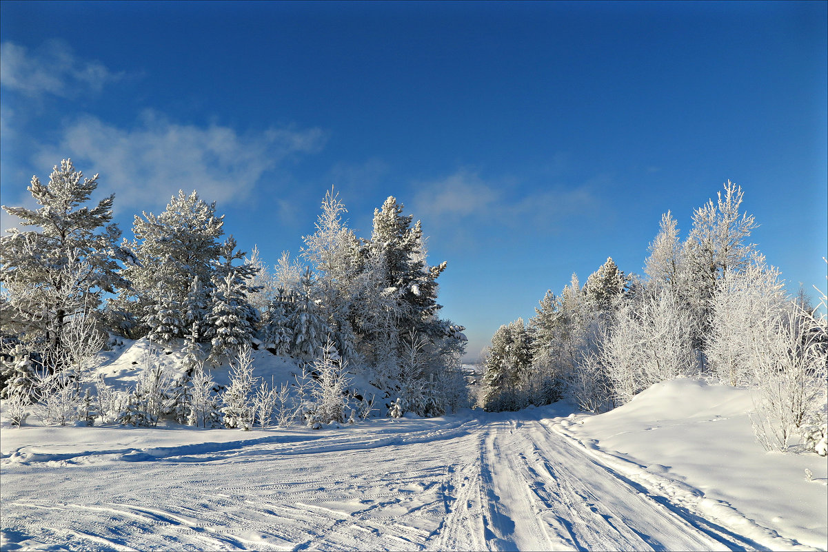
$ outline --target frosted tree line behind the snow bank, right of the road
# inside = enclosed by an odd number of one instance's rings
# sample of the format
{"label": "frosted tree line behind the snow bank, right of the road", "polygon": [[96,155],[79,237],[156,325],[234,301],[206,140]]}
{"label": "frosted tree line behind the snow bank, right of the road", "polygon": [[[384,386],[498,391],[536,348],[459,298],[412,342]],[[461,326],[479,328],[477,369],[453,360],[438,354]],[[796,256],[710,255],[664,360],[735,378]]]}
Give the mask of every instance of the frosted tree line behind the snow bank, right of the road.
{"label": "frosted tree line behind the snow bank, right of the road", "polygon": [[684,241],[667,211],[643,276],[610,257],[583,286],[573,275],[560,295],[547,291],[527,322],[501,326],[479,404],[519,410],[567,397],[600,412],[654,383],[706,376],[758,389],[753,425],[766,448],[786,450],[799,434],[826,454],[826,318],[802,293],[787,295],[749,242],[757,223],[743,197],[728,181],[694,211]]}

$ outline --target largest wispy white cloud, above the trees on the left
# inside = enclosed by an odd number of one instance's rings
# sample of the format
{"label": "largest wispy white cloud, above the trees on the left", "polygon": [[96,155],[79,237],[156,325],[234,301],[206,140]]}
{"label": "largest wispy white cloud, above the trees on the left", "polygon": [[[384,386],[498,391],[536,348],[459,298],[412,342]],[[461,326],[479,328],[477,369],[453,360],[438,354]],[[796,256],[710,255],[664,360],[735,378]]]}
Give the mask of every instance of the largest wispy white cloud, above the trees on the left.
{"label": "largest wispy white cloud, above the trees on the left", "polygon": [[57,143],[43,146],[34,166],[71,157],[85,175],[100,174],[99,190],[115,193],[115,209],[157,209],[178,190],[198,190],[221,204],[248,199],[262,175],[287,156],[318,151],[318,128],[272,128],[240,135],[233,128],[169,122],[144,113],[137,127],[114,127],[84,116],[66,125]]}

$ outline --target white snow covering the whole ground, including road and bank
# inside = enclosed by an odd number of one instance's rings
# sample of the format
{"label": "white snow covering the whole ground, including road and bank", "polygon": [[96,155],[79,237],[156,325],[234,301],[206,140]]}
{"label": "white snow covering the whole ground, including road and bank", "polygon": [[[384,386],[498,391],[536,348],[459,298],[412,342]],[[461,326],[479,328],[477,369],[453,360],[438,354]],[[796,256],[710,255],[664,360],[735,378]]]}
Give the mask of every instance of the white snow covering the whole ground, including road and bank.
{"label": "white snow covering the whole ground, including road and bank", "polygon": [[[132,376],[127,353],[109,378]],[[257,375],[290,377],[267,354]],[[749,391],[679,379],[604,415],[558,403],[248,432],[3,422],[0,548],[826,550],[826,458],[765,453],[751,408]]]}

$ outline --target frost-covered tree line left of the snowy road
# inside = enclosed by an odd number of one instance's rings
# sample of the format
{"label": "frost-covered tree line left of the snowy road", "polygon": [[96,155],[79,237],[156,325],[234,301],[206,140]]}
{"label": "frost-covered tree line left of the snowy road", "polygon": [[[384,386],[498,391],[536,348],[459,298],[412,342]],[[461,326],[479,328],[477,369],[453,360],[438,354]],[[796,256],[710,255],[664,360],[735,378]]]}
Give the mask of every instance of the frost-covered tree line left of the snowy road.
{"label": "frost-covered tree line left of the snowy road", "polygon": [[32,177],[38,208],[2,207],[32,227],[0,239],[2,396],[41,401],[59,376],[53,387],[79,395],[78,367],[118,338],[179,343],[191,367],[251,347],[308,363],[334,354],[370,369],[402,412],[426,413],[429,382],[461,378],[464,328],[437,303],[446,264],[427,262],[421,223],[397,199],[358,238],[330,190],[299,256],[283,253],[270,271],[224,236],[224,215],[196,191],[136,215],[134,238],[122,239],[114,195],[89,205],[98,179],[67,159],[46,185]]}

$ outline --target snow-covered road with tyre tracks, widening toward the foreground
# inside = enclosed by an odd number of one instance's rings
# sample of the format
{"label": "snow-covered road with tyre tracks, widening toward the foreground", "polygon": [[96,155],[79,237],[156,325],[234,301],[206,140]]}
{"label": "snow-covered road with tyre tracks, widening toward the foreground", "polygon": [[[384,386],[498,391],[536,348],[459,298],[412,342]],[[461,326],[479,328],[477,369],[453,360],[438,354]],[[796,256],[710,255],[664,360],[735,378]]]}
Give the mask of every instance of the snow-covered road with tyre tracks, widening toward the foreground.
{"label": "snow-covered road with tyre tracks, widening toward the foreground", "polygon": [[2,463],[3,549],[763,550],[554,425],[524,410],[224,443],[23,447]]}

